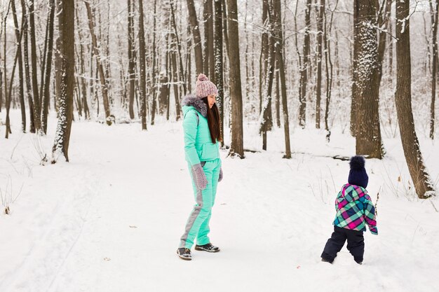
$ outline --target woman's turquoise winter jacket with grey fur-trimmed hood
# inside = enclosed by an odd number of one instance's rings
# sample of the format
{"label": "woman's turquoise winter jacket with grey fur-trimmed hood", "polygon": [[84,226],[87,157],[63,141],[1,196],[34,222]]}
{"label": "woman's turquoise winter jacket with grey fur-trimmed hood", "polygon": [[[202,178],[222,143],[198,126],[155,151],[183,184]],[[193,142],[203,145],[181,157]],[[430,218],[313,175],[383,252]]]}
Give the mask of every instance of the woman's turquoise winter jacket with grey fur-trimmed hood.
{"label": "woman's turquoise winter jacket with grey fur-trimmed hood", "polygon": [[219,158],[219,143],[212,143],[207,119],[207,106],[194,95],[182,101],[184,153],[189,165]]}

